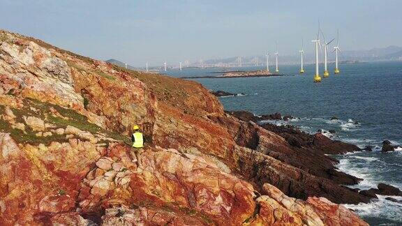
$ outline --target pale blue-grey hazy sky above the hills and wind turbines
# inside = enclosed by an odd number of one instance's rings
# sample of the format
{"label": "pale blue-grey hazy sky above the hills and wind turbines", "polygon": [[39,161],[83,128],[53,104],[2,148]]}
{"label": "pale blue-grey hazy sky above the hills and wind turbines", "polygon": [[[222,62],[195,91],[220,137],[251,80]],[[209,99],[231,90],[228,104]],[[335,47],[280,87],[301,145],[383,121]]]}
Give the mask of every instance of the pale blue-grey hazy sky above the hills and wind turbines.
{"label": "pale blue-grey hazy sky above the hills and wind turbines", "polygon": [[402,46],[401,0],[0,0],[0,29],[131,66],[313,52],[339,29],[341,50]]}

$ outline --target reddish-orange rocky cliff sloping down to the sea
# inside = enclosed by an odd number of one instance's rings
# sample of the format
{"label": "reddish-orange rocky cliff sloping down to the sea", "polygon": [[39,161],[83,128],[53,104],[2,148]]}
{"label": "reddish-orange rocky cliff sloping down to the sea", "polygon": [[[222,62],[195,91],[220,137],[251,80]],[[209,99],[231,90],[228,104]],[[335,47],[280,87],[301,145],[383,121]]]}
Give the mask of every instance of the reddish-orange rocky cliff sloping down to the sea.
{"label": "reddish-orange rocky cliff sloping down to the sea", "polygon": [[196,82],[0,31],[0,224],[366,225],[334,204],[369,200],[334,142],[239,118]]}

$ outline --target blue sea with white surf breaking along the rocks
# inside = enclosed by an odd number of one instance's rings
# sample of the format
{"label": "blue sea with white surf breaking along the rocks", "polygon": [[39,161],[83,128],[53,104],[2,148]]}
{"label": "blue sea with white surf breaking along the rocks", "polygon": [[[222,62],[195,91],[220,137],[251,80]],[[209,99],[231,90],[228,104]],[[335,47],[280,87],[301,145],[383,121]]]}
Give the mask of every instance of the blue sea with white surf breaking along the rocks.
{"label": "blue sea with white surf breaking along the rocks", "polygon": [[[402,190],[402,149],[382,153],[382,141],[402,145],[402,61],[341,64],[341,73],[332,72],[322,82],[313,83],[314,66],[308,64],[299,75],[299,66],[280,66],[281,77],[194,79],[207,89],[244,95],[220,98],[225,110],[247,110],[254,114],[281,112],[292,115],[289,123],[308,133],[322,130],[334,140],[342,140],[373,151],[336,156],[338,169],[364,179],[353,188],[376,188],[388,183]],[[261,70],[265,66],[225,68]],[[273,68],[271,68],[273,69]],[[168,70],[172,77],[211,76],[222,68]],[[322,70],[322,68],[320,68]],[[336,116],[337,120],[331,120]],[[328,131],[332,130],[332,133]],[[402,197],[394,197],[402,199]],[[369,204],[346,205],[370,225],[402,225],[402,204],[385,196]]]}

